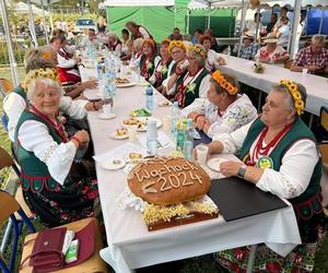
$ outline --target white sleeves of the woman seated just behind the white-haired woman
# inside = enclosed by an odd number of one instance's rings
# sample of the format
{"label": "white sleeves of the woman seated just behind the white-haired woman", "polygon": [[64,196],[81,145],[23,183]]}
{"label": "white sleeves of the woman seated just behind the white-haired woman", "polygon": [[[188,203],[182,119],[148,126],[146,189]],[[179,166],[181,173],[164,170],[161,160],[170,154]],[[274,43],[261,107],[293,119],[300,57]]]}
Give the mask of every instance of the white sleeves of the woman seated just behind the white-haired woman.
{"label": "white sleeves of the woman seated just behind the white-haired woman", "polygon": [[[81,119],[86,116],[85,105],[87,103],[87,100],[72,100],[69,96],[62,96],[59,109],[74,119]],[[8,116],[8,134],[12,142],[14,142],[16,124],[25,108],[26,103],[24,98],[15,92],[11,92],[4,97],[3,110]]]}

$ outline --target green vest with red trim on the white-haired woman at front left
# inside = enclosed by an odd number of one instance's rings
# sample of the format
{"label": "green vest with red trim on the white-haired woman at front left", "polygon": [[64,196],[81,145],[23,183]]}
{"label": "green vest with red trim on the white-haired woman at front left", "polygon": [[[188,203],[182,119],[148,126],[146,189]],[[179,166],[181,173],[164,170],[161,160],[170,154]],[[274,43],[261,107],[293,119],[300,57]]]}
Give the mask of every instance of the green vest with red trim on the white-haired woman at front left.
{"label": "green vest with red trim on the white-haired woman at front left", "polygon": [[46,188],[47,190],[55,191],[59,183],[50,176],[47,165],[37,158],[33,152],[26,151],[17,140],[19,130],[26,120],[36,120],[44,123],[48,128],[49,134],[54,138],[54,140],[58,144],[62,142],[56,130],[47,121],[31,111],[23,111],[15,131],[17,158],[22,168],[20,177],[22,189],[24,191],[31,190],[33,192],[40,192],[44,188]]}

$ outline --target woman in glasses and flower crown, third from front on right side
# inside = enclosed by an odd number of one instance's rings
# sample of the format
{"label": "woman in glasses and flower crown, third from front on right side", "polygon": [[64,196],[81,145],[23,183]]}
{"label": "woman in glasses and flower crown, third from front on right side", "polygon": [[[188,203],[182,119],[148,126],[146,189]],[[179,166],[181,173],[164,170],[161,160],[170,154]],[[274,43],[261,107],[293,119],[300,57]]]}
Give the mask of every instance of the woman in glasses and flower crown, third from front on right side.
{"label": "woman in glasses and flower crown, third from front on right side", "polygon": [[210,88],[211,75],[204,68],[207,51],[203,46],[200,44],[189,46],[187,60],[188,67],[176,66],[167,83],[168,90],[174,87],[174,100],[178,102],[180,108],[192,104],[198,97],[206,97]]}

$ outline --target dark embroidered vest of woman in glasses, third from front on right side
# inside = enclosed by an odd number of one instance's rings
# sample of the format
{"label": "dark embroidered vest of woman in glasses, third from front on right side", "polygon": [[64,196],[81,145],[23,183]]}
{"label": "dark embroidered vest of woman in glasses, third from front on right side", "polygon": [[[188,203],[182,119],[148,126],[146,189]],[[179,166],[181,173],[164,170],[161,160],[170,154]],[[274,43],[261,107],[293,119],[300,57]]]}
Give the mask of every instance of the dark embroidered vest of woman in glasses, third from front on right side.
{"label": "dark embroidered vest of woman in glasses, third from front on right side", "polygon": [[185,75],[188,73],[186,71],[183,73],[176,81],[175,85],[175,99],[179,103],[179,107],[185,108],[186,106],[192,104],[192,102],[199,97],[199,87],[201,81],[204,76],[209,74],[209,71],[203,69],[200,74],[196,78],[196,80],[188,86],[183,87]]}

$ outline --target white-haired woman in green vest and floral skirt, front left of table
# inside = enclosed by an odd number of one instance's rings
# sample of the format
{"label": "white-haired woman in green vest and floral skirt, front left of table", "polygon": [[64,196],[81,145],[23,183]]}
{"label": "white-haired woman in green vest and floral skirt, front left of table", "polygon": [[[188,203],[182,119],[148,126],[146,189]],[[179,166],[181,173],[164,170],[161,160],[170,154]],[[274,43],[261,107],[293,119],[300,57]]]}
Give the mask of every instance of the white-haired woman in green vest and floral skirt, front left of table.
{"label": "white-haired woman in green vest and floral skirt, front left of table", "polygon": [[69,140],[58,121],[62,97],[58,74],[52,69],[32,70],[24,86],[31,107],[19,120],[15,143],[27,205],[47,226],[94,215],[97,183],[74,163],[89,134],[82,130]]}

